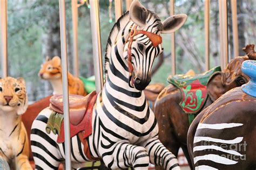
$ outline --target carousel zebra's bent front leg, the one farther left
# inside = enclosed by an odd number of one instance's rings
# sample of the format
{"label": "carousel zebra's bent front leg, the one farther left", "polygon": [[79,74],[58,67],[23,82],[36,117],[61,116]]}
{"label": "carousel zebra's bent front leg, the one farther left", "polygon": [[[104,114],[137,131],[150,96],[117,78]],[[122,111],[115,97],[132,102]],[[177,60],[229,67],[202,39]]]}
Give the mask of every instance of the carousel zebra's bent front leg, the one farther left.
{"label": "carousel zebra's bent front leg, the one farther left", "polygon": [[148,169],[149,155],[142,146],[129,143],[118,143],[112,146],[113,150],[102,155],[103,161],[108,168],[123,169],[133,167],[134,169]]}

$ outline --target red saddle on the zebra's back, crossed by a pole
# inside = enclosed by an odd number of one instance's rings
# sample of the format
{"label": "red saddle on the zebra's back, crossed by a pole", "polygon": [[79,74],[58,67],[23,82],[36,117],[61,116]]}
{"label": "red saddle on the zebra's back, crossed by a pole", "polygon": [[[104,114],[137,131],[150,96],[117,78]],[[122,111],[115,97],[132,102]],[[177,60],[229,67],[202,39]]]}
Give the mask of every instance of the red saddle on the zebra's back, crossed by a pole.
{"label": "red saddle on the zebra's back, crossed by a pole", "polygon": [[[84,131],[84,138],[92,133],[92,110],[96,102],[97,93],[92,91],[87,96],[69,95],[70,110],[70,137],[72,138],[80,131]],[[63,114],[63,95],[55,95],[50,98],[50,108]],[[63,143],[64,139],[64,122],[60,125],[60,134],[57,142]]]}

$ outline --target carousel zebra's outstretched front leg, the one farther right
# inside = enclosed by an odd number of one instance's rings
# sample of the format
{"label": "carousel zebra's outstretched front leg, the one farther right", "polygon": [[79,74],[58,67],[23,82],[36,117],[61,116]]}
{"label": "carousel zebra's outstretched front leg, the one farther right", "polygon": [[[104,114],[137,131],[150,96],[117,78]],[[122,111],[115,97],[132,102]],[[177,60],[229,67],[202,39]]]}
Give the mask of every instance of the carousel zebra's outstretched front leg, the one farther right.
{"label": "carousel zebra's outstretched front leg, the one farther right", "polygon": [[149,153],[151,164],[163,167],[164,169],[180,169],[178,159],[160,142],[157,137],[146,140],[143,145]]}

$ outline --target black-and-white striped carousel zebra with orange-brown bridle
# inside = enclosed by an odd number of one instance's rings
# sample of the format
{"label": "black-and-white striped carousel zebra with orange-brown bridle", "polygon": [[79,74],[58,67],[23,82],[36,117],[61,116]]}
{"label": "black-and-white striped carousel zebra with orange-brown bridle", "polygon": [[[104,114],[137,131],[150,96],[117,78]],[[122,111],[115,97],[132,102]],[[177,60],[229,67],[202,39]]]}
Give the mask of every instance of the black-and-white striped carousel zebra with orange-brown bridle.
{"label": "black-and-white striped carousel zebra with orange-brown bridle", "polygon": [[[172,33],[185,22],[176,15],[160,22],[156,13],[133,1],[130,12],[120,17],[111,30],[105,55],[106,81],[97,94],[92,111],[92,134],[83,143],[71,138],[72,168],[100,158],[111,169],[147,169],[149,163],[165,169],[180,169],[178,160],[158,139],[158,124],[143,90],[151,81],[154,59],[163,52],[160,33]],[[56,169],[65,160],[64,143],[57,134],[46,133],[52,114],[44,109],[32,124],[31,150],[36,169]]]}

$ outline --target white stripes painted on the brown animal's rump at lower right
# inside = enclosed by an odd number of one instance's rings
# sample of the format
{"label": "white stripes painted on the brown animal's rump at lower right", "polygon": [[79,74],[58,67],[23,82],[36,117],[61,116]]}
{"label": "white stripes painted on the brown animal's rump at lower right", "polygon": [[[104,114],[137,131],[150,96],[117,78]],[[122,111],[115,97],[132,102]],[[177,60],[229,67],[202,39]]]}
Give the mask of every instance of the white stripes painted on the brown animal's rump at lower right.
{"label": "white stripes painted on the brown animal's rump at lower right", "polygon": [[[242,126],[242,123],[199,123],[197,130],[227,131]],[[218,164],[235,165],[238,163],[234,158],[243,159],[244,155],[235,150],[244,150],[241,146],[243,137],[232,139],[220,139],[210,136],[194,137],[194,164],[195,169],[218,169]],[[244,146],[243,146],[244,147]],[[201,162],[203,161],[203,162]],[[207,163],[209,163],[207,165]]]}

